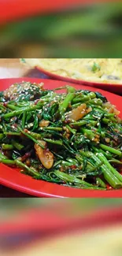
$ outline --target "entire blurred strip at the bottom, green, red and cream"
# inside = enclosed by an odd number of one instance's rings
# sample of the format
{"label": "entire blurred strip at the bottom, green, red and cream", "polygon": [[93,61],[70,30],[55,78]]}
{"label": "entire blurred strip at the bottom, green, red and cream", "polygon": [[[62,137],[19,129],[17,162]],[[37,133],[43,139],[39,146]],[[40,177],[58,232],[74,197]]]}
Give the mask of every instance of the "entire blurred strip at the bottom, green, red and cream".
{"label": "entire blurred strip at the bottom, green, red and cream", "polygon": [[0,255],[121,255],[121,198],[1,198],[0,206]]}

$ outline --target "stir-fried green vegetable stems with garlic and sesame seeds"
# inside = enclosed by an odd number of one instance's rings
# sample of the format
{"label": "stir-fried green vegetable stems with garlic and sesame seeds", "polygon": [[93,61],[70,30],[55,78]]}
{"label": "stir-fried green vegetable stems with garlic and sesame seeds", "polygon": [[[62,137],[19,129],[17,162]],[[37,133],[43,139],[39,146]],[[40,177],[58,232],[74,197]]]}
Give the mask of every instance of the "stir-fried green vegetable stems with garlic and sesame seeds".
{"label": "stir-fried green vegetable stems with garlic and sesame seeds", "polygon": [[64,186],[122,187],[119,111],[98,92],[65,90],[22,82],[1,92],[0,162]]}

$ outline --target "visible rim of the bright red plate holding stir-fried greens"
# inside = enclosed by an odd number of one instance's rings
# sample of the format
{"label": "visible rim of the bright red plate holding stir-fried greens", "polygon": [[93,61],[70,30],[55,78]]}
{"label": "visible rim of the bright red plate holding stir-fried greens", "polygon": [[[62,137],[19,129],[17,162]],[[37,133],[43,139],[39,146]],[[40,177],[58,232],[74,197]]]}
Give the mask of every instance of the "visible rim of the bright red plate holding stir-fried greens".
{"label": "visible rim of the bright red plate holding stir-fried greens", "polygon": [[[65,86],[65,82],[58,80],[43,80],[36,78],[14,78],[14,79],[2,79],[0,80],[0,90],[3,91],[11,84],[21,81],[30,81],[36,83],[45,83],[45,88],[53,89],[60,86]],[[72,84],[72,83],[68,83]],[[86,89],[90,90],[90,87],[83,85],[74,84],[76,89]],[[91,91],[99,91],[104,95],[113,105],[116,105],[116,108],[121,111],[120,117],[122,118],[122,98],[118,95],[113,95],[107,91],[102,91],[100,89],[96,89],[91,87]],[[27,193],[29,195],[35,195],[37,197],[71,197],[71,198],[113,198],[113,197],[122,197],[122,189],[113,190],[113,191],[91,191],[91,190],[83,190],[76,189],[72,187],[63,187],[57,184],[51,184],[49,182],[43,180],[34,180],[31,176],[25,176],[20,173],[18,169],[9,168],[6,165],[0,164],[0,184],[5,185],[7,187],[11,187],[17,191],[21,191]]]}

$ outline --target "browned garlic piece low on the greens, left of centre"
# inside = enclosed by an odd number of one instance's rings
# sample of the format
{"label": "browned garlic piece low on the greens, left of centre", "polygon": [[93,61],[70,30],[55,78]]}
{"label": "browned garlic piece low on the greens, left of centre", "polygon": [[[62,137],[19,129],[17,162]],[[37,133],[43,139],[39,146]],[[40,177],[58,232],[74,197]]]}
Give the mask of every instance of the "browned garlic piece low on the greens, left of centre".
{"label": "browned garlic piece low on the greens, left of centre", "polygon": [[[39,140],[44,147],[46,147],[46,142]],[[54,165],[54,154],[52,154],[47,148],[43,150],[38,144],[35,143],[36,154],[46,169],[50,169]]]}

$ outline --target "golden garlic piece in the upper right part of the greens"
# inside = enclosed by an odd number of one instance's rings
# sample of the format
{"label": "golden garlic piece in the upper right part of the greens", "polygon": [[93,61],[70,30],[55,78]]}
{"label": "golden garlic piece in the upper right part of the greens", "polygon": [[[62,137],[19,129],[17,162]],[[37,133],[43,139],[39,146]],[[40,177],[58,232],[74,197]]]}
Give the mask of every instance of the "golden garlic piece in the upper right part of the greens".
{"label": "golden garlic piece in the upper right part of the greens", "polygon": [[72,119],[74,121],[78,121],[79,119],[85,116],[85,114],[87,113],[86,109],[87,109],[86,104],[81,104],[76,109],[72,109],[72,111],[68,113],[66,118]]}

